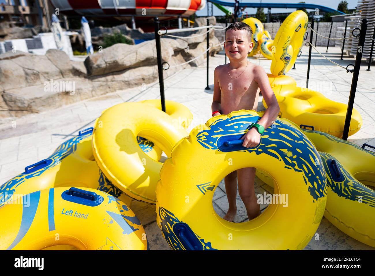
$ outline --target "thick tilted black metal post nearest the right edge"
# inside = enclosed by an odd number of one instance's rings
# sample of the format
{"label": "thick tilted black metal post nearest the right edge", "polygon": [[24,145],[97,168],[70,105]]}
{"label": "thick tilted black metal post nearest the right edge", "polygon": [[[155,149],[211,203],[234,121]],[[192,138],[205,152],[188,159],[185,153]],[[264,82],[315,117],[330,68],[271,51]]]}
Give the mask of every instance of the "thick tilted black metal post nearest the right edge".
{"label": "thick tilted black metal post nearest the right edge", "polygon": [[354,72],[353,72],[352,84],[350,87],[347,116],[345,118],[344,133],[342,134],[342,139],[344,140],[348,140],[351,115],[353,112],[353,105],[354,105],[354,97],[356,97],[359,69],[361,67],[363,45],[365,45],[366,30],[367,30],[367,19],[365,18],[362,20],[361,33],[359,36],[359,42],[358,42],[358,47],[357,47],[356,62],[354,63]]}

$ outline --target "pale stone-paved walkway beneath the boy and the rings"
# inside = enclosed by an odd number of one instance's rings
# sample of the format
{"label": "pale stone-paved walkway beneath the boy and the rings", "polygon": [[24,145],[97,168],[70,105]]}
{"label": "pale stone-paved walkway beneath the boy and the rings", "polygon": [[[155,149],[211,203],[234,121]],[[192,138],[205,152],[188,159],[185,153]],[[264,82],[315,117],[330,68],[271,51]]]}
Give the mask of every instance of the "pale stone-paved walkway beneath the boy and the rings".
{"label": "pale stone-paved walkway beneath the boy and the rings", "polygon": [[[325,52],[325,47],[318,47],[318,49]],[[308,48],[304,47],[302,56],[297,60],[296,69],[288,72],[288,75],[294,77],[297,85],[301,87],[306,85],[307,54]],[[343,66],[347,66],[349,63],[354,64],[353,58],[344,57],[344,60],[340,60],[339,48],[329,48],[329,53],[326,56]],[[269,72],[270,60],[261,56],[249,60],[263,66]],[[223,63],[223,55],[210,57],[210,84],[213,83],[214,68]],[[348,140],[359,145],[366,142],[375,146],[374,71],[375,67],[372,71],[366,71],[365,63],[363,63],[358,80],[354,107],[362,115],[363,127],[358,133],[350,136]],[[207,119],[211,117],[212,90],[204,90],[206,86],[205,75],[204,62],[198,68],[184,69],[165,79],[165,98],[183,103],[193,113],[194,120],[189,130],[198,124],[205,124]],[[310,88],[314,86],[323,87],[323,89],[317,90],[332,100],[347,104],[352,76],[345,69],[329,63],[319,54],[313,52]],[[72,97],[75,96],[72,95]],[[95,119],[107,107],[122,102],[157,98],[160,98],[158,82],[30,115],[0,126],[0,139],[2,139],[0,140],[0,183],[4,183],[9,178],[22,172],[24,167],[48,157],[60,143],[69,139],[72,135],[78,134],[79,130],[93,126]],[[259,99],[258,111],[264,110],[261,100],[262,97]],[[273,192],[273,188],[264,184],[258,178],[256,179],[255,189],[257,193],[261,194],[264,191]],[[220,216],[223,216],[228,209],[223,182],[220,183],[219,188],[214,193],[213,206]],[[262,205],[262,211],[266,207],[266,205]],[[170,250],[156,224],[154,205],[133,201],[131,208],[145,227],[151,249]],[[246,210],[238,194],[237,208],[235,222],[246,221]],[[323,218],[317,233],[319,234],[319,240],[311,240],[305,248],[306,250],[373,249],[345,235],[325,218]]]}

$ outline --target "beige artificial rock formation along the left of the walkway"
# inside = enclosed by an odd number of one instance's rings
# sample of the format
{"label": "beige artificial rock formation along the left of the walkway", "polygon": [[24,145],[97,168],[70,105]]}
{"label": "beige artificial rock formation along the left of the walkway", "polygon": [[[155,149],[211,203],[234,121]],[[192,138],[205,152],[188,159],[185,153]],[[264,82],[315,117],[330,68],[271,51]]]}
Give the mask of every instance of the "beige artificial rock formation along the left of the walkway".
{"label": "beige artificial rock formation along the left of the walkway", "polygon": [[[213,33],[210,32],[210,42],[217,45],[219,41]],[[193,62],[165,70],[164,77],[202,63],[205,39],[206,35],[191,39],[163,37],[162,60],[170,66],[199,56]],[[210,54],[220,50],[217,45],[210,49]],[[7,52],[0,54],[0,123],[157,79],[155,40],[137,45],[115,44],[90,55],[84,62],[73,62],[65,52],[56,49],[48,50],[45,56]]]}

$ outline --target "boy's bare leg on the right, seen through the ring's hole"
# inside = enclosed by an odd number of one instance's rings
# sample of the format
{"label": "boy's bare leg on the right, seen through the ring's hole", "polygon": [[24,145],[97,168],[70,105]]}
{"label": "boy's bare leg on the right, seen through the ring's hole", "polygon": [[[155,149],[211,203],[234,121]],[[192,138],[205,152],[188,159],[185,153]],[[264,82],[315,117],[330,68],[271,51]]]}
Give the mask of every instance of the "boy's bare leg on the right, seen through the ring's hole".
{"label": "boy's bare leg on the right, seen through the ring's hole", "polygon": [[257,202],[254,190],[255,168],[242,168],[237,170],[238,192],[245,204],[249,220],[260,215],[260,205]]}

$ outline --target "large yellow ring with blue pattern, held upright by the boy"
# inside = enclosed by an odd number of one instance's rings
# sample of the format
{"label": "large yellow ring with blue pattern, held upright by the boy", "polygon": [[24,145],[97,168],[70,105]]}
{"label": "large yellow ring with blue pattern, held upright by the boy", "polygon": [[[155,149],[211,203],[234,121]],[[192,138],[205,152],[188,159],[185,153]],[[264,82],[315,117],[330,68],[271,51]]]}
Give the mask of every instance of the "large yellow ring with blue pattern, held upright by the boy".
{"label": "large yellow ring with blue pattern, held upright by the boy", "polygon": [[[322,162],[305,134],[285,119],[276,119],[256,148],[237,145],[262,115],[240,110],[210,118],[173,148],[156,187],[157,223],[172,249],[292,250],[309,243],[326,206]],[[243,167],[269,172],[276,179],[275,194],[288,194],[288,208],[270,204],[244,223],[219,217],[214,191],[224,176]]]}

